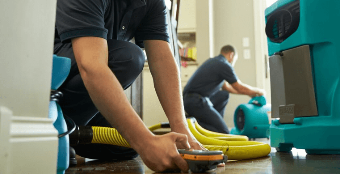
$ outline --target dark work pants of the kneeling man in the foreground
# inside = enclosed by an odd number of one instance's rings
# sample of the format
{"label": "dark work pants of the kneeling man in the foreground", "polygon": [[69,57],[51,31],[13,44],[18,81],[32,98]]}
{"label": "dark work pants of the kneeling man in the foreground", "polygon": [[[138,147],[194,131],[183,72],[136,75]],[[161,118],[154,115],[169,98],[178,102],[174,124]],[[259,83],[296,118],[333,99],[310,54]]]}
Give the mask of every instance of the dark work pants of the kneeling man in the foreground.
{"label": "dark work pants of the kneeling man in the foreground", "polygon": [[[130,42],[111,39],[107,41],[107,45],[108,66],[125,90],[141,73],[145,62],[144,53],[141,48]],[[64,94],[60,100],[63,113],[80,126],[112,127],[93,104],[84,86],[71,44],[55,45],[54,54],[68,57],[72,61],[70,74],[58,89]],[[78,155],[90,159],[123,160],[138,156],[131,148],[106,144],[77,145],[74,149]]]}

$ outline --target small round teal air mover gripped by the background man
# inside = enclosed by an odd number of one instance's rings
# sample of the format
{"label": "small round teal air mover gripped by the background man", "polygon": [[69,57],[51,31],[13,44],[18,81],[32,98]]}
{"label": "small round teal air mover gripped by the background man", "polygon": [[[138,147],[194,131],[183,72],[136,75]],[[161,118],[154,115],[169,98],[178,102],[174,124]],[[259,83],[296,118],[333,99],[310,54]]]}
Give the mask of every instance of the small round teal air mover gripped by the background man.
{"label": "small round teal air mover gripped by the background man", "polygon": [[235,127],[230,133],[249,138],[269,138],[270,125],[267,112],[271,107],[266,104],[266,98],[260,96],[252,98],[247,104],[239,105],[234,114]]}

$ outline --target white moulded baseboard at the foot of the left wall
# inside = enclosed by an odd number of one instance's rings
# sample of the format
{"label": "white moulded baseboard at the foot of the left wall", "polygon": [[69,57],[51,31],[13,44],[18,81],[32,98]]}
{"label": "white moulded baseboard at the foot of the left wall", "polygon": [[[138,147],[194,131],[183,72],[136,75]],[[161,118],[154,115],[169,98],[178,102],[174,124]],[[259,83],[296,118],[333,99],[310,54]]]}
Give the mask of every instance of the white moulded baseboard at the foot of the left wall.
{"label": "white moulded baseboard at the foot of the left wall", "polygon": [[[0,118],[2,121],[2,116]],[[58,132],[51,119],[11,116],[7,128],[8,158],[5,174],[56,174]],[[2,143],[0,141],[0,147]]]}

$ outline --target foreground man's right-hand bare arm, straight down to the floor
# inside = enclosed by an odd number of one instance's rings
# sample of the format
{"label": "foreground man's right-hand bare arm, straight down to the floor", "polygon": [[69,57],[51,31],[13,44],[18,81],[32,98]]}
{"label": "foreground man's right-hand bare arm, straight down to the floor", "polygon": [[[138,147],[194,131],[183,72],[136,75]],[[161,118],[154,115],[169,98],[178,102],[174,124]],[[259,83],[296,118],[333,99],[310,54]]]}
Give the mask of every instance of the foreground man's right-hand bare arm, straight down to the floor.
{"label": "foreground man's right-hand bare arm, straight down to the floor", "polygon": [[144,45],[155,90],[171,130],[186,134],[192,148],[204,149],[193,137],[185,120],[179,68],[170,44],[161,40],[146,40]]}

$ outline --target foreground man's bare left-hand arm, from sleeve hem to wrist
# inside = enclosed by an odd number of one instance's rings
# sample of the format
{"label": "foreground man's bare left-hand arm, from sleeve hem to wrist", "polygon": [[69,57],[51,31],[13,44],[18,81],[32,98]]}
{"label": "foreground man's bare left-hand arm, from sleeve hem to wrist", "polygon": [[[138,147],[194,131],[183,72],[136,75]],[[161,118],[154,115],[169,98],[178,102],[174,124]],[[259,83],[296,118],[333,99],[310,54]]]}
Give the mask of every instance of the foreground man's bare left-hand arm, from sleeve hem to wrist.
{"label": "foreground man's bare left-hand arm, from sleeve hem to wrist", "polygon": [[142,144],[148,136],[153,136],[130,105],[121,84],[107,66],[106,40],[98,37],[74,38],[72,47],[84,85],[106,120],[132,147]]}

